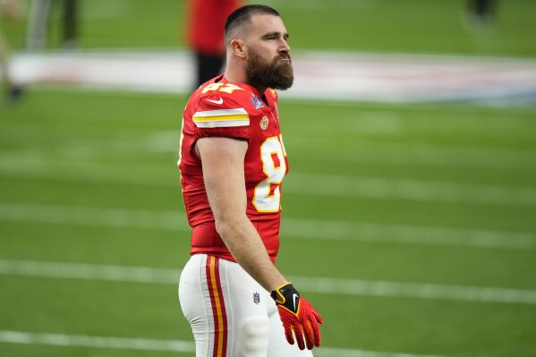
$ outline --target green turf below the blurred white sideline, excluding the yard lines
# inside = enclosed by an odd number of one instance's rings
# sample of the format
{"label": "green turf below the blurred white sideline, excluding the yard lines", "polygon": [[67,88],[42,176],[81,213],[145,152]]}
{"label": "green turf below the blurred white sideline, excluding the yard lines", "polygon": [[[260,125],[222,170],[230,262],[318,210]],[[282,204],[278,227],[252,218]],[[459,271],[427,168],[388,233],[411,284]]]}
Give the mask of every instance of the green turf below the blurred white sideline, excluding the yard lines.
{"label": "green turf below the blurred white sideline, excluding the yard lines", "polygon": [[[187,231],[159,229],[157,222],[146,228],[106,225],[95,212],[121,208],[158,217],[176,211],[177,221],[183,221],[175,152],[184,100],[40,89],[21,106],[4,110],[2,203],[33,208],[19,219],[3,214],[1,258],[181,268],[188,257]],[[304,186],[329,190],[329,183],[316,177],[533,190],[533,108],[286,101],[279,110],[291,163],[284,217],[525,233],[536,241],[534,200],[505,197],[503,203],[485,204],[434,200],[433,191],[426,200],[303,191]],[[384,124],[379,127],[370,118]],[[449,161],[430,162],[419,148]],[[85,208],[89,223],[70,221],[68,215],[64,221],[40,222],[28,213],[47,217],[56,208]],[[278,264],[292,276],[536,289],[534,245],[520,250],[362,242],[353,235],[334,241],[329,234],[307,240],[285,234],[285,220],[283,232]],[[0,279],[4,330],[191,338],[174,285]],[[529,356],[536,351],[533,305],[309,295],[327,320],[323,334],[330,347],[455,356]],[[80,347],[2,344],[2,349],[29,356],[44,351],[106,355]],[[133,355],[138,354],[144,355]]]}

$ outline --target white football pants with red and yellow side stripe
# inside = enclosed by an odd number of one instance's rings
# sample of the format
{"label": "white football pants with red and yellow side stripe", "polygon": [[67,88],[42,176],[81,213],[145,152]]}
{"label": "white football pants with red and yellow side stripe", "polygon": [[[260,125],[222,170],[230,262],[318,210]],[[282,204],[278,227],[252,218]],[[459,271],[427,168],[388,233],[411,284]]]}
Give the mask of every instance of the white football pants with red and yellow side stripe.
{"label": "white football pants with red and yellow side stripe", "polygon": [[237,263],[196,254],[179,282],[196,357],[311,357],[288,344],[276,303]]}

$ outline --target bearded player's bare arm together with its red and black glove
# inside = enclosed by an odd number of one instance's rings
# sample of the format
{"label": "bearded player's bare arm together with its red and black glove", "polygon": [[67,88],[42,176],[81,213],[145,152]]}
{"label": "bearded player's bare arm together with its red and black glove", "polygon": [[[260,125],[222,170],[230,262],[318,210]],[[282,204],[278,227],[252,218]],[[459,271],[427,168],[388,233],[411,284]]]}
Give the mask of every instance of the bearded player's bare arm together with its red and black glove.
{"label": "bearded player's bare arm together with its red and black glove", "polygon": [[322,319],[277,270],[259,233],[246,216],[243,162],[248,143],[229,138],[202,138],[197,141],[195,149],[201,158],[217,233],[238,264],[268,292],[272,292],[288,343],[294,344],[295,336],[302,350],[319,346]]}

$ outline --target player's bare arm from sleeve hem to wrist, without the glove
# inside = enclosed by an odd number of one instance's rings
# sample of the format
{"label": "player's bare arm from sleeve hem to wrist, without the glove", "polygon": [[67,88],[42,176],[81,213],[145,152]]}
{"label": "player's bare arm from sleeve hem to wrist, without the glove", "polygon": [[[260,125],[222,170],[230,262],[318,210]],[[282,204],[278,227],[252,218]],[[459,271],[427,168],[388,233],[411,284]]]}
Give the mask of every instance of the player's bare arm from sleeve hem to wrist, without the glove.
{"label": "player's bare arm from sleeve hem to wrist, without the glove", "polygon": [[255,227],[246,216],[243,160],[248,143],[230,138],[201,138],[196,152],[201,158],[208,201],[217,233],[234,259],[268,292],[285,285]]}

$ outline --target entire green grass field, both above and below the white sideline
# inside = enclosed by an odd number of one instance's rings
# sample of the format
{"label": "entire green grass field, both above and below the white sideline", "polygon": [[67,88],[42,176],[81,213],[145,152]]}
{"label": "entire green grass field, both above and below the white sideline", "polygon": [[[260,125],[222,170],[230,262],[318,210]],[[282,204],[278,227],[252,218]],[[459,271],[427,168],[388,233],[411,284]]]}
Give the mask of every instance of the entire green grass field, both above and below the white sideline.
{"label": "entire green grass field, both above and below the white sideline", "polygon": [[[478,36],[461,1],[287,3],[269,2],[300,48],[536,56],[528,0],[501,2]],[[181,46],[183,2],[83,4],[85,48]],[[7,30],[18,43],[21,24]],[[0,355],[193,355],[155,343],[192,341],[176,293],[186,99],[37,86],[0,107]],[[285,100],[279,113],[277,264],[325,319],[316,356],[536,354],[535,106]]]}

